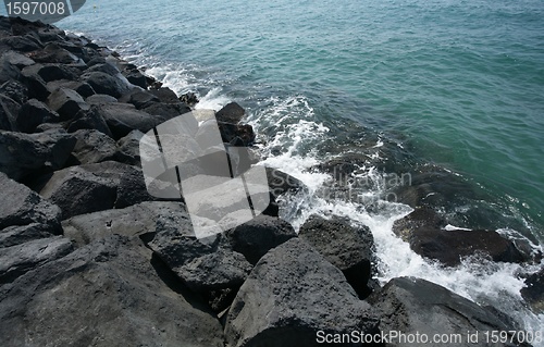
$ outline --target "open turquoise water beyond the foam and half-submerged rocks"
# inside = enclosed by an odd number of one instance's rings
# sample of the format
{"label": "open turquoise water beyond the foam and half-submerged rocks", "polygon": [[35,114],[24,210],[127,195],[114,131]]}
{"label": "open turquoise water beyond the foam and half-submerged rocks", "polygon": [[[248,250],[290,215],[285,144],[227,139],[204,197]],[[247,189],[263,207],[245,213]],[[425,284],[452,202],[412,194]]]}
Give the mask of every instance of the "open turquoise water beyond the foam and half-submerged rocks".
{"label": "open turquoise water beyond the foam and half-submerged rocks", "polygon": [[254,113],[299,97],[331,136],[400,134],[544,235],[541,0],[87,1],[59,26],[134,54],[178,92]]}

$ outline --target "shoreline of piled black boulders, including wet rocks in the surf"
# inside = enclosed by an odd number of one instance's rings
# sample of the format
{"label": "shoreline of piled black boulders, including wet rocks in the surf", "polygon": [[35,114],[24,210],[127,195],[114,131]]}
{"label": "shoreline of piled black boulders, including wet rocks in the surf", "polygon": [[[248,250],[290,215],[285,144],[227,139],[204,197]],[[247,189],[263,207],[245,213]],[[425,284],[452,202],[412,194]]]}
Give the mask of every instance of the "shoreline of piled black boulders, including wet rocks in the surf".
{"label": "shoreline of piled black boulders, including wet rocks in the surf", "polygon": [[[312,215],[297,235],[275,199],[305,186],[277,170],[267,169],[263,214],[196,238],[183,202],[148,194],[139,158],[154,126],[187,114],[198,127],[193,95],[41,23],[0,17],[0,345],[362,346],[361,336],[390,332],[462,332],[459,345],[471,346],[467,332],[521,329],[420,278],[380,287],[364,225]],[[243,108],[215,117],[223,141],[252,145]],[[443,224],[421,208],[395,232],[444,265],[474,252],[531,261],[495,232]],[[528,281],[526,297],[542,310],[542,273]],[[370,345],[418,345],[379,339]]]}

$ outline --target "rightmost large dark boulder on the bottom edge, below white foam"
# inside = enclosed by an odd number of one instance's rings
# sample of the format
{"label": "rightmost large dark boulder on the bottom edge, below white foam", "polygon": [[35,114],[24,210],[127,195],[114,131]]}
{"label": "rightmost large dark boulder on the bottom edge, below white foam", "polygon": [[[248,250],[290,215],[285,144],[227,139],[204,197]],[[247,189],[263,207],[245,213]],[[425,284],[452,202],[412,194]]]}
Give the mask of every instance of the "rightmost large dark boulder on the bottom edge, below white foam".
{"label": "rightmost large dark boulder on the bottom edge, below white foam", "polygon": [[[384,332],[404,334],[435,334],[452,336],[458,334],[460,340],[452,345],[472,346],[467,340],[467,332],[480,332],[478,346],[511,346],[509,344],[486,343],[483,332],[512,331],[505,323],[477,303],[448,289],[415,277],[391,280],[382,290],[372,294],[368,301],[382,318],[380,329]],[[510,340],[511,336],[508,336]],[[400,340],[390,340],[392,346],[413,346]]]}

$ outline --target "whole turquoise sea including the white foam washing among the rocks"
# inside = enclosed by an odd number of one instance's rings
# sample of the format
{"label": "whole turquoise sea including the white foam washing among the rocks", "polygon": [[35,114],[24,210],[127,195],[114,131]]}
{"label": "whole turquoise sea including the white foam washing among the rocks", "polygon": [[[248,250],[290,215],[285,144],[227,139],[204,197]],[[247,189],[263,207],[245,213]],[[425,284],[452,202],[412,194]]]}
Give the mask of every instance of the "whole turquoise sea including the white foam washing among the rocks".
{"label": "whole turquoise sea including the white foam washing among the rocks", "polygon": [[[196,92],[198,108],[243,106],[264,163],[310,188],[283,216],[369,225],[383,282],[424,277],[527,330],[544,326],[519,295],[539,265],[428,262],[392,233],[411,208],[384,178],[446,173],[436,186],[452,224],[542,249],[544,1],[88,0],[57,25],[115,48],[178,95]],[[319,168],[354,158],[364,184],[360,199],[343,199]]]}

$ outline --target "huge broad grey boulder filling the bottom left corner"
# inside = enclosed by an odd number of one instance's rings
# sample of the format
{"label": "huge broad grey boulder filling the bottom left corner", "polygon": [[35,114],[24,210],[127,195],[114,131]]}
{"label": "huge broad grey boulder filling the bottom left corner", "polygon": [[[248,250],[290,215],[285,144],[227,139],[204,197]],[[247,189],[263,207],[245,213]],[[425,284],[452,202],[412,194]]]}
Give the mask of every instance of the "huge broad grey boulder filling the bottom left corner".
{"label": "huge broad grey boulder filling the bottom left corner", "polygon": [[36,346],[223,346],[205,305],[139,240],[121,236],[0,287],[0,344],[30,338]]}

